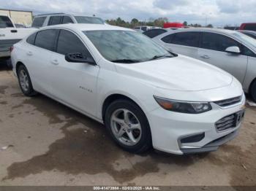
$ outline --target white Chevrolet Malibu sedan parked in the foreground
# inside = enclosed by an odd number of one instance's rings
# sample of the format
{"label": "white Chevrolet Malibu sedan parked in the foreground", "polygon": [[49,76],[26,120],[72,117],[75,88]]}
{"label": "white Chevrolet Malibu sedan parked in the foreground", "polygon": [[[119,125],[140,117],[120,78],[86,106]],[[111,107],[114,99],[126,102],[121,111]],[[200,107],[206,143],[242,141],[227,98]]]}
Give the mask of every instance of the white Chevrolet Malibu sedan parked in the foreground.
{"label": "white Chevrolet Malibu sedan parked in the foreground", "polygon": [[11,56],[25,95],[42,93],[104,123],[129,152],[213,151],[238,134],[244,117],[236,78],[127,28],[41,28]]}

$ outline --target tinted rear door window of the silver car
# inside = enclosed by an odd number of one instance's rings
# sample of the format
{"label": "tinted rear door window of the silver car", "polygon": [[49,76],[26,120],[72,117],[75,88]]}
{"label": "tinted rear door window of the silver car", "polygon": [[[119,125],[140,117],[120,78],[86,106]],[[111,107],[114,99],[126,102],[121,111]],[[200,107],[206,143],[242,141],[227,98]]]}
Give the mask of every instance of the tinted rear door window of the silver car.
{"label": "tinted rear door window of the silver car", "polygon": [[171,41],[172,44],[179,44],[188,47],[198,47],[199,45],[199,32],[181,32],[176,33]]}

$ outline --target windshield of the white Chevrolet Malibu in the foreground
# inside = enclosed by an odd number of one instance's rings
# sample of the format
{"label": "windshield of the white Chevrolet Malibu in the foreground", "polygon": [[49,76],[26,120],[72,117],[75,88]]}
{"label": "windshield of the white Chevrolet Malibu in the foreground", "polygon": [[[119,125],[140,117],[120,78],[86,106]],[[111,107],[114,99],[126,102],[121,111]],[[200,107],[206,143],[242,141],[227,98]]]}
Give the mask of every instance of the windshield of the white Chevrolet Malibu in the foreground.
{"label": "windshield of the white Chevrolet Malibu in the foreground", "polygon": [[108,61],[135,63],[173,55],[135,31],[83,31]]}

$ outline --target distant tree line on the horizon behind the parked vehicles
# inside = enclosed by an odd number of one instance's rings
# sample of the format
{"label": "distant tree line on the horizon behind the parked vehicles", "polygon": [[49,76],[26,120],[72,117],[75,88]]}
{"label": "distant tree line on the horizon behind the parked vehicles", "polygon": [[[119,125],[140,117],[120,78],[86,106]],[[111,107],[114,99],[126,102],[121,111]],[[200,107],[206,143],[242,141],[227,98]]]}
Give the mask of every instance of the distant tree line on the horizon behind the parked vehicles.
{"label": "distant tree line on the horizon behind the parked vehicles", "polygon": [[[133,18],[131,21],[125,21],[122,20],[121,17],[118,17],[117,19],[110,19],[106,20],[106,22],[112,26],[121,26],[121,27],[126,27],[126,28],[135,28],[135,26],[158,26],[158,27],[163,27],[164,23],[169,22],[167,17],[159,17],[157,19],[150,18],[149,20],[144,20],[140,21],[137,18]],[[198,23],[190,23],[188,24],[187,21],[184,21],[184,26],[191,26],[191,27],[202,27],[202,25]],[[208,28],[213,28],[211,24],[208,24]]]}

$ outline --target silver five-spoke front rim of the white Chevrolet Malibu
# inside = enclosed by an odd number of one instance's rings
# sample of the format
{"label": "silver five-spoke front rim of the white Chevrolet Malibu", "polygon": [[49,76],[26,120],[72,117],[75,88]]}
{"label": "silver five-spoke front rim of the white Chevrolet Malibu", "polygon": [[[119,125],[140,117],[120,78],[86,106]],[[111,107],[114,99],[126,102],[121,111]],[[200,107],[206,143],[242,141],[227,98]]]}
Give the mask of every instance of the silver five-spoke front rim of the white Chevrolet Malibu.
{"label": "silver five-spoke front rim of the white Chevrolet Malibu", "polygon": [[113,112],[110,124],[114,136],[122,144],[133,146],[140,141],[140,122],[128,109],[117,109]]}

